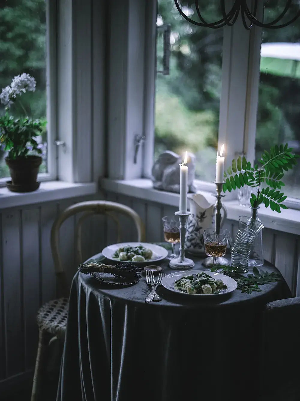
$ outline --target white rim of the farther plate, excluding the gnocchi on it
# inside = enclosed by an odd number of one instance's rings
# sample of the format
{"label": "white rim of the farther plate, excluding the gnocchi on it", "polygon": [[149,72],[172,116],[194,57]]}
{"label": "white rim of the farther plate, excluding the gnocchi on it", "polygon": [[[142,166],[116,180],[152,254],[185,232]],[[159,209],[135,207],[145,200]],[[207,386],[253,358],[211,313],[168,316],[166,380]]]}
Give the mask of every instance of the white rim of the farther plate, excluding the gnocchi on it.
{"label": "white rim of the farther plate, excluding the gnocchi on it", "polygon": [[114,260],[118,262],[126,262],[125,260],[119,260],[117,257],[112,257],[112,255],[116,252],[117,249],[124,247],[125,245],[129,245],[130,247],[137,247],[138,245],[143,245],[143,247],[151,249],[152,257],[151,259],[146,259],[142,262],[131,262],[135,265],[144,265],[145,263],[156,262],[164,259],[168,256],[168,251],[159,245],[150,244],[146,242],[120,242],[118,244],[108,245],[108,247],[104,248],[102,251],[102,255],[105,256],[109,260]]}

